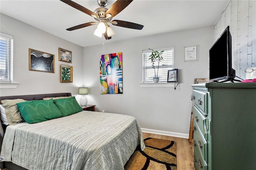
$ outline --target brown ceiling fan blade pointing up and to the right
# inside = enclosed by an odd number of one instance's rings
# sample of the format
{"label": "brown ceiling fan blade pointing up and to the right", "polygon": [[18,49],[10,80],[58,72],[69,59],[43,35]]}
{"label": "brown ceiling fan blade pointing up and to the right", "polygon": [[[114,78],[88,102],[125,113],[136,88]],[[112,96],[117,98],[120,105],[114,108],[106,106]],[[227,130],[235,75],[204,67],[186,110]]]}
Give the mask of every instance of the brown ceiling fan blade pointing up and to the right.
{"label": "brown ceiling fan blade pointing up and to the right", "polygon": [[111,18],[119,14],[124,8],[126,8],[133,0],[117,0],[110,8],[107,10],[106,14],[111,14]]}

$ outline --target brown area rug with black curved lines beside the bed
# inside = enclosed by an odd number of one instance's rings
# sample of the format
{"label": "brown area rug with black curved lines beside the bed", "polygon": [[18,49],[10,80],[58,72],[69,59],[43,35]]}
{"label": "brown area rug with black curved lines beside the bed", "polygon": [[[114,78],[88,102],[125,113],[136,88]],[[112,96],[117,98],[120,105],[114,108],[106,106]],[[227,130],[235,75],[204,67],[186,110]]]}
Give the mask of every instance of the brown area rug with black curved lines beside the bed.
{"label": "brown area rug with black curved lines beside the bed", "polygon": [[177,170],[176,142],[157,138],[144,139],[146,148],[136,148],[125,170]]}

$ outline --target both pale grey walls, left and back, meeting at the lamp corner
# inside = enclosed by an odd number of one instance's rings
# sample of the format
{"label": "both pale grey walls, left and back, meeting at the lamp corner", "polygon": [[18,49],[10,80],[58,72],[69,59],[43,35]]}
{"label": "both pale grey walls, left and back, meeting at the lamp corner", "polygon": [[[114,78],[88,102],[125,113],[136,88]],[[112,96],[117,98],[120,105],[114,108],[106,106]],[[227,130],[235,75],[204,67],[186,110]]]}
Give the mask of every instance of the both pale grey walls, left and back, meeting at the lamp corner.
{"label": "both pale grey walls, left and back, meeting at the lamp corner", "polygon": [[[188,134],[191,84],[194,78],[208,77],[212,27],[82,48],[3,14],[0,17],[0,31],[14,36],[14,83],[20,83],[16,89],[0,89],[1,96],[58,92],[76,95],[78,87],[89,87],[88,104],[95,104],[96,111],[132,115],[142,128]],[[199,61],[185,62],[184,47],[194,45],[199,46]],[[175,68],[179,69],[178,88],[140,87],[142,50],[168,46],[174,46]],[[72,63],[58,61],[58,47],[72,51]],[[29,48],[54,54],[55,73],[29,71]],[[124,93],[101,95],[100,56],[114,52],[123,53]],[[74,83],[60,83],[60,64],[74,67]]]}

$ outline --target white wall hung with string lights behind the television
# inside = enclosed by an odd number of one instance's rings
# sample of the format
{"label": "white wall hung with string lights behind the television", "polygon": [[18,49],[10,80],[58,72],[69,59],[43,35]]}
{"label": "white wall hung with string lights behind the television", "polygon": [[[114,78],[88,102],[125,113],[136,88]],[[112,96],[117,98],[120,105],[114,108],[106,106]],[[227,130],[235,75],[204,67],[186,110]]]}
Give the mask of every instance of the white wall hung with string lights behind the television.
{"label": "white wall hung with string lights behind the television", "polygon": [[230,26],[232,67],[246,79],[244,70],[256,67],[256,1],[231,0],[214,25],[214,41]]}

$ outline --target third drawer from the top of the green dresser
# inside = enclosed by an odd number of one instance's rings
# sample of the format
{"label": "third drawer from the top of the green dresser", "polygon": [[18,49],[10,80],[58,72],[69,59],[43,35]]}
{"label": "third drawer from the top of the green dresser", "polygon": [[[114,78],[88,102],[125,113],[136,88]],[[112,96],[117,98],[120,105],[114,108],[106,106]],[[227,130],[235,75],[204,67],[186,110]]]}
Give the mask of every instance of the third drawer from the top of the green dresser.
{"label": "third drawer from the top of the green dresser", "polygon": [[194,129],[194,149],[200,152],[202,158],[208,162],[208,144],[196,123]]}

